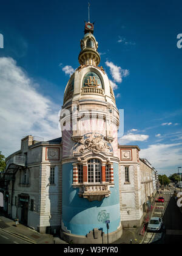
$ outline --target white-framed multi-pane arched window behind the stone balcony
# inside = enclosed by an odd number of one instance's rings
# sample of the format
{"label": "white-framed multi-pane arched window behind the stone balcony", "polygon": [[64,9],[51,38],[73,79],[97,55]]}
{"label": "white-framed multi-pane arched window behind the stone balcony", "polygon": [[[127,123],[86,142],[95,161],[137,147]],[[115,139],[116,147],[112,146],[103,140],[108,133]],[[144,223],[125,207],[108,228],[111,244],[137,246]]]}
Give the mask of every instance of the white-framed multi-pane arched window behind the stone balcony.
{"label": "white-framed multi-pane arched window behind the stone balcony", "polygon": [[88,183],[101,182],[101,162],[98,159],[88,161]]}

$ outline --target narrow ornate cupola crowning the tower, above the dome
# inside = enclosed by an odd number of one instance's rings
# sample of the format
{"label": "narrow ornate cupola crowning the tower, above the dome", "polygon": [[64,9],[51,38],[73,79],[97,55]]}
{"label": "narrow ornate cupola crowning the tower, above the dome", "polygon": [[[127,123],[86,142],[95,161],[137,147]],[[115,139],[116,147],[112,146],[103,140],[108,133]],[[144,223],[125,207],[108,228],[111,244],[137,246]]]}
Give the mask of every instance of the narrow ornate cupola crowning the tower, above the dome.
{"label": "narrow ornate cupola crowning the tower, above the dome", "polygon": [[79,64],[98,66],[101,61],[101,57],[97,49],[98,42],[93,35],[93,24],[86,23],[85,35],[81,40],[81,52],[78,57]]}

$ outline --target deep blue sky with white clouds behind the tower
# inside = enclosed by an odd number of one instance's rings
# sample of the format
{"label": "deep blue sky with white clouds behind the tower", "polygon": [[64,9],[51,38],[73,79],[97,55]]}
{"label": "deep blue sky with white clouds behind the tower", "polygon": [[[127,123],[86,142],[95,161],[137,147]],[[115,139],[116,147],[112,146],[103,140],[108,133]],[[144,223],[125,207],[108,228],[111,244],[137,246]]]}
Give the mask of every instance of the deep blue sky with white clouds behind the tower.
{"label": "deep blue sky with white clouds behind the tower", "polygon": [[[122,144],[162,174],[182,166],[181,1],[90,0],[100,65],[124,108]],[[87,1],[1,2],[0,151],[27,135],[59,137],[58,112],[68,71],[78,68]],[[63,70],[62,70],[63,69]]]}

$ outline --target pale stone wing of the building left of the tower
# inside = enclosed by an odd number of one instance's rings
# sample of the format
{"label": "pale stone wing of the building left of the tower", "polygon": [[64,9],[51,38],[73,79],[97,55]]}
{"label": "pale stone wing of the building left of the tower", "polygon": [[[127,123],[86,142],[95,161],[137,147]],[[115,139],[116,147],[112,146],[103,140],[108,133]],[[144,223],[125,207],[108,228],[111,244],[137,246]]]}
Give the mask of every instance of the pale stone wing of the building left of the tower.
{"label": "pale stone wing of the building left of the tower", "polygon": [[38,142],[21,140],[21,150],[7,157],[4,210],[13,219],[38,232],[59,229],[61,224],[61,138]]}

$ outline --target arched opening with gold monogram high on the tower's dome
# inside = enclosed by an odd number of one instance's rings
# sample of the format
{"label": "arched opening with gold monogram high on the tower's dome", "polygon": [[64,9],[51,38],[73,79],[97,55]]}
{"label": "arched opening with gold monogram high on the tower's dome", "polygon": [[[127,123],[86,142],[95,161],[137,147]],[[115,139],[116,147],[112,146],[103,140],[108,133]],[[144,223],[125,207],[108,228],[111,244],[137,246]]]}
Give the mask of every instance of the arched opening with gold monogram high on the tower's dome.
{"label": "arched opening with gold monogram high on the tower's dome", "polygon": [[86,76],[84,76],[83,87],[95,87],[103,89],[103,84],[98,74],[89,72],[86,74]]}

